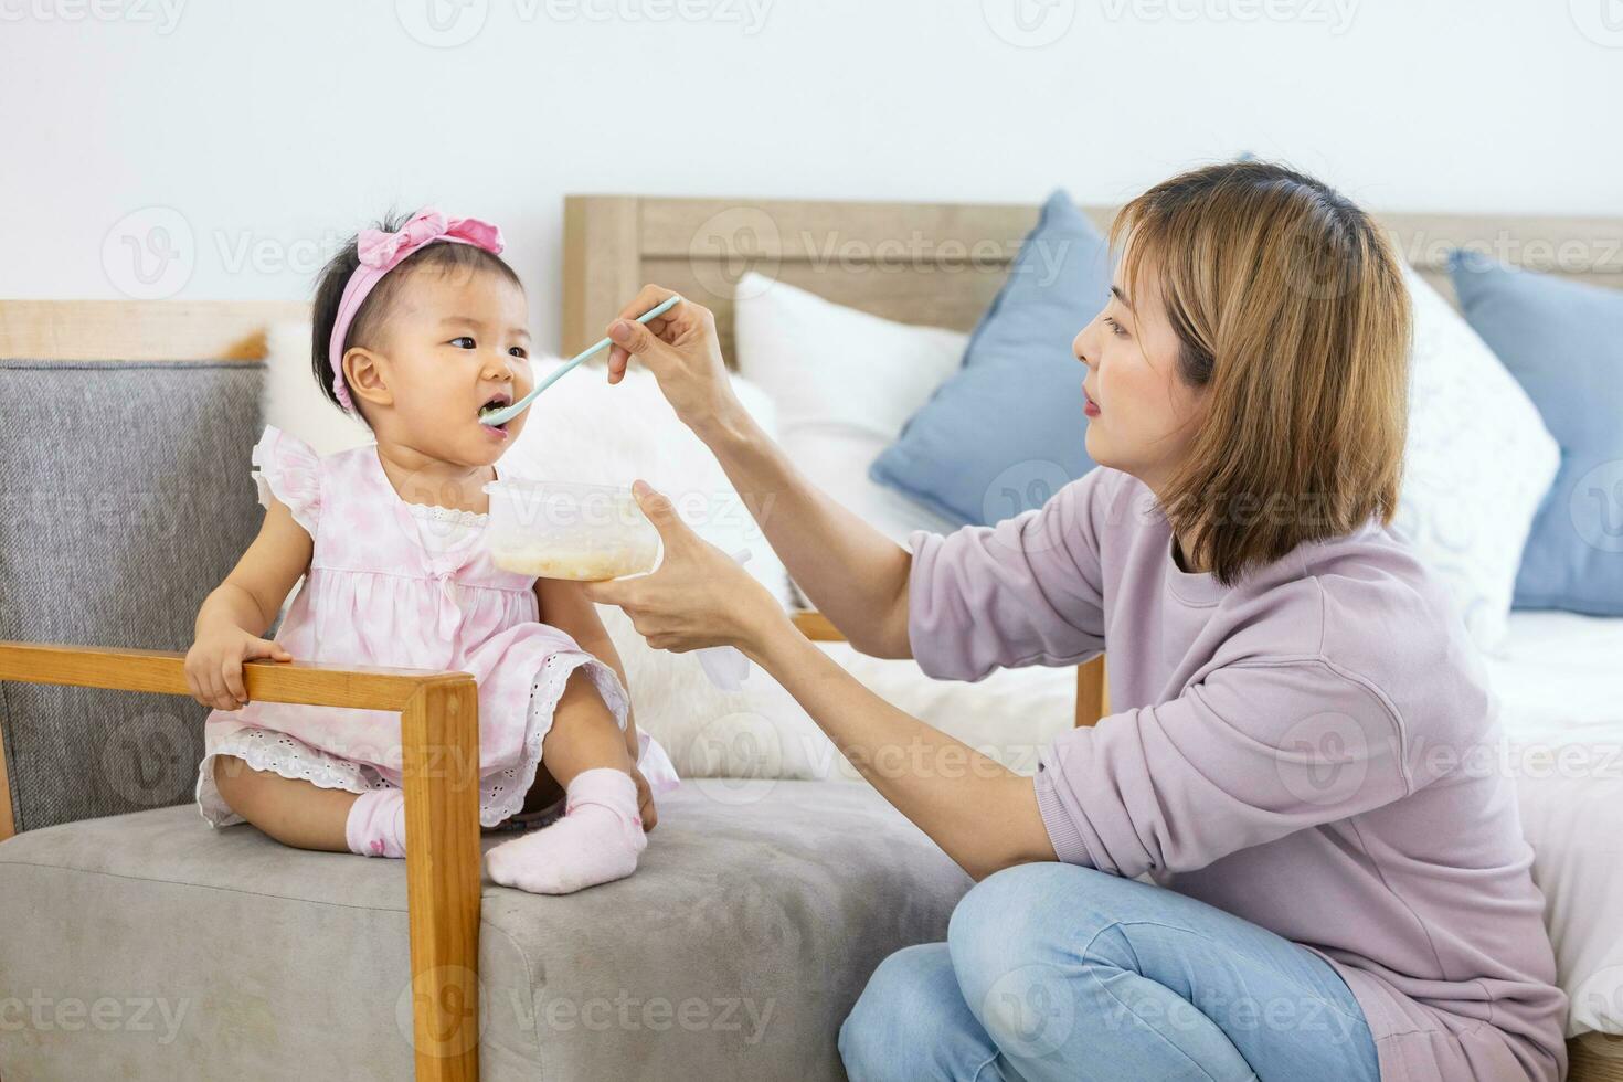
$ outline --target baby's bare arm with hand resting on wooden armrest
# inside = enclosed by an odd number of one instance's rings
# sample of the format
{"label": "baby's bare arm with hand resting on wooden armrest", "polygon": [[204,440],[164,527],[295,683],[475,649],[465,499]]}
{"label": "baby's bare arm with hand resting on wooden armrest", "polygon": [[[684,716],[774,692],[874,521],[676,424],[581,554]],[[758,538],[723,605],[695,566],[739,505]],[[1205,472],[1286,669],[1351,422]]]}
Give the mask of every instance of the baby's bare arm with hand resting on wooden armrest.
{"label": "baby's bare arm with hand resting on wooden armrest", "polygon": [[203,599],[196,641],[187,652],[187,683],[203,706],[237,711],[248,701],[242,662],[250,657],[292,660],[279,644],[261,639],[276,612],[310,568],[315,543],[281,500],[269,496],[260,535],[226,581]]}

